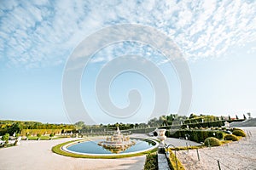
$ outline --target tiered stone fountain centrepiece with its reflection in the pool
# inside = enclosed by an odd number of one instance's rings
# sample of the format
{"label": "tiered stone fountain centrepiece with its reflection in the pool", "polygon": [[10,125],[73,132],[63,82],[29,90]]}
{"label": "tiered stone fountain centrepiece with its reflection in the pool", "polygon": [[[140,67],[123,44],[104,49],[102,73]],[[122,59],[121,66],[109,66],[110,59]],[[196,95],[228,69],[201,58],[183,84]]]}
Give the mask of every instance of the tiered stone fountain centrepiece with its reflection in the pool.
{"label": "tiered stone fountain centrepiece with its reflection in the pool", "polygon": [[101,141],[98,144],[103,148],[110,150],[112,153],[119,153],[120,151],[124,151],[131,147],[131,145],[134,145],[135,142],[131,141],[129,136],[124,136],[120,132],[119,127],[117,127],[117,130],[112,136],[107,137],[106,140]]}

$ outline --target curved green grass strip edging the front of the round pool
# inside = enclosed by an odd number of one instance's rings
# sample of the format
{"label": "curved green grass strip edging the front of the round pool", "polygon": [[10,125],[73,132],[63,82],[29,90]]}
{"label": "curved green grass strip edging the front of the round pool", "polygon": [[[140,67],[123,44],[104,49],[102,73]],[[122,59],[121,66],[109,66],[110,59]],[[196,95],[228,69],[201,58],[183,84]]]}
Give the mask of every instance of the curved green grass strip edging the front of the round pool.
{"label": "curved green grass strip edging the front of the round pool", "polygon": [[90,155],[80,155],[80,154],[70,153],[70,152],[67,152],[67,151],[64,151],[61,149],[64,145],[70,144],[70,143],[73,143],[73,142],[79,141],[79,140],[81,140],[81,139],[68,141],[68,142],[65,142],[62,144],[57,144],[54,147],[52,147],[51,150],[54,153],[59,154],[61,156],[71,156],[71,157],[76,157],[76,158],[92,158],[92,159],[117,159],[117,158],[132,157],[132,156],[143,156],[146,154],[153,153],[157,150],[157,148],[155,148],[154,150],[148,150],[148,151],[144,151],[144,152],[140,152],[140,153],[136,153],[136,154],[129,154],[129,155],[90,156]]}

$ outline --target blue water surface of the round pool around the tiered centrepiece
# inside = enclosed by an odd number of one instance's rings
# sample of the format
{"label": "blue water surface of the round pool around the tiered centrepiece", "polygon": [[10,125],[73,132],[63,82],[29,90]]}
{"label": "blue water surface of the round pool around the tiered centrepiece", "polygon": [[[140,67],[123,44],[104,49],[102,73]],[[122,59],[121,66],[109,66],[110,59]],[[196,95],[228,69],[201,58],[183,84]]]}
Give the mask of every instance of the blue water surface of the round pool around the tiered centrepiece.
{"label": "blue water surface of the round pool around the tiered centrepiece", "polygon": [[[103,141],[104,139],[97,139],[93,141],[85,141],[79,144],[73,144],[67,147],[67,150],[87,153],[87,154],[113,154],[110,150],[104,149],[102,146],[98,145],[98,142]],[[131,139],[136,144],[132,145],[130,148],[119,153],[130,153],[140,150],[147,150],[155,145],[153,142],[144,141],[141,139]]]}

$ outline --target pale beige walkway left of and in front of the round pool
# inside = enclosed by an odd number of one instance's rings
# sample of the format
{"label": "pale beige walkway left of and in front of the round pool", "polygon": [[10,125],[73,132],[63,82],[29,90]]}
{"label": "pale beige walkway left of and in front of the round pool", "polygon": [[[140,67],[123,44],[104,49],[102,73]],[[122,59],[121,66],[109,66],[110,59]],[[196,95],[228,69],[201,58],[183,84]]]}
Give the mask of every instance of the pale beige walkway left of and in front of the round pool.
{"label": "pale beige walkway left of and in front of the round pool", "polygon": [[81,159],[60,156],[51,151],[52,146],[72,139],[20,141],[20,146],[0,149],[1,170],[86,170],[86,169],[143,169],[146,156],[122,159]]}

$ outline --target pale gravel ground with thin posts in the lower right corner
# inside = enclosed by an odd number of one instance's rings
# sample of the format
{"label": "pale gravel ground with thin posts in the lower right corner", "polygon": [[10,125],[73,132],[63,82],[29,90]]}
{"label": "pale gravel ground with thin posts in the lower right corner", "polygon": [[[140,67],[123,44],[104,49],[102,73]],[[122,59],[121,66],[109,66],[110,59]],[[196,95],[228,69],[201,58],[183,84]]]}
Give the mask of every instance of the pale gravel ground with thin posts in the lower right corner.
{"label": "pale gravel ground with thin posts in the lower right corner", "polygon": [[221,170],[256,170],[256,127],[241,128],[251,132],[252,137],[211,149],[201,149],[200,161],[196,150],[177,151],[177,157],[188,170],[218,170],[218,161]]}

